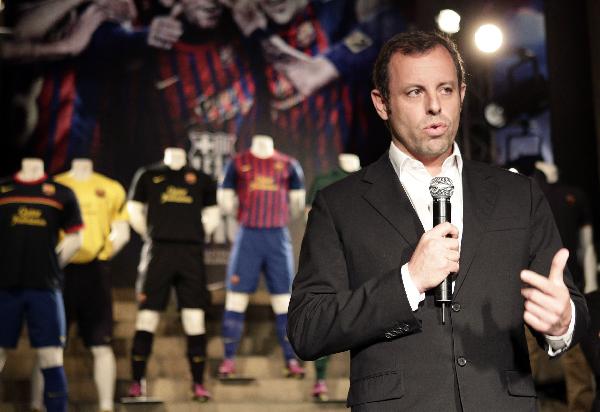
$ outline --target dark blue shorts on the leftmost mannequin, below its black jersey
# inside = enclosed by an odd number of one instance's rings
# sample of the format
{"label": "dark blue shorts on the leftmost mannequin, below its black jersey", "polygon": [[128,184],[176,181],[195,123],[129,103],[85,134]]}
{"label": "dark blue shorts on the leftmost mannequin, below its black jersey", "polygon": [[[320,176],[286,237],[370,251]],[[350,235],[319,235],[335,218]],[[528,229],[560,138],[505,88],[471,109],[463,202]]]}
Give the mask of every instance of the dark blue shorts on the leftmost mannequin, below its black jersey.
{"label": "dark blue shorts on the leftmost mannequin, below its black jersey", "polygon": [[65,308],[60,291],[0,289],[0,347],[17,347],[24,319],[32,347],[64,345]]}

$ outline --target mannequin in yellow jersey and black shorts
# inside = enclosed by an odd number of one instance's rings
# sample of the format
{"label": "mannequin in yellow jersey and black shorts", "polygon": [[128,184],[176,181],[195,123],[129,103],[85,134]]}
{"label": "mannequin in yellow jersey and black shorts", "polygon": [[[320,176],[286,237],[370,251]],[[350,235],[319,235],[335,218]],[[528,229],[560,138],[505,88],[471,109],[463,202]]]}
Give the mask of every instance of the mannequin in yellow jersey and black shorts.
{"label": "mannequin in yellow jersey and black shorts", "polygon": [[[78,323],[79,334],[94,357],[99,410],[112,411],[116,361],[112,347],[107,344],[112,335],[112,290],[106,262],[129,241],[125,190],[117,181],[95,173],[92,161],[86,158],[73,159],[71,169],[55,176],[55,180],[75,192],[86,225],[83,246],[65,267],[67,323]],[[77,315],[71,319],[72,314]],[[34,371],[32,409],[42,406],[41,379],[39,371]]]}

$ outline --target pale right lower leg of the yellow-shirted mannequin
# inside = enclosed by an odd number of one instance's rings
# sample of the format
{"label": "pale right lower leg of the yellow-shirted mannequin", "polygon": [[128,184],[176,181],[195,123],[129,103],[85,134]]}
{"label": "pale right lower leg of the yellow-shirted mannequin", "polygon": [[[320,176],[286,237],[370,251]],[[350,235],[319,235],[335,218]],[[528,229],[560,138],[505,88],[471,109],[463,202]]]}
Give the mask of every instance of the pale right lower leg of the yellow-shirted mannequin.
{"label": "pale right lower leg of the yellow-shirted mannequin", "polygon": [[101,411],[114,410],[115,379],[117,363],[112,348],[108,345],[92,346],[94,355],[94,381],[98,389],[98,403]]}

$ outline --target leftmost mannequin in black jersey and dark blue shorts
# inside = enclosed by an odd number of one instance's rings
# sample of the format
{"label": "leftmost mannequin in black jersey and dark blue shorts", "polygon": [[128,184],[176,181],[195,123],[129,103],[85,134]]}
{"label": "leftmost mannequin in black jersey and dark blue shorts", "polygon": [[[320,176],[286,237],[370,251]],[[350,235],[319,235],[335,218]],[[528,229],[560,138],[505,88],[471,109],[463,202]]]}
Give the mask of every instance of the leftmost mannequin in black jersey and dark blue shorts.
{"label": "leftmost mannequin in black jersey and dark blue shorts", "polygon": [[[14,179],[5,179],[0,185],[4,188],[0,213],[11,216],[4,221],[12,222],[10,230],[0,228],[0,243],[9,249],[26,247],[29,251],[27,259],[15,250],[6,256],[10,262],[0,262],[1,316],[14,316],[18,322],[25,318],[35,321],[37,326],[29,329],[29,335],[45,381],[44,405],[49,412],[66,411],[64,307],[57,266],[63,267],[82,244],[79,230],[83,224],[77,200],[70,189],[45,175],[44,164],[37,158],[23,159]],[[65,235],[56,242],[60,229]],[[18,273],[14,273],[14,267],[19,268]],[[18,293],[6,294],[4,288]],[[18,336],[5,335],[3,339],[6,340],[0,343],[0,369],[5,363],[6,348],[16,346]]]}

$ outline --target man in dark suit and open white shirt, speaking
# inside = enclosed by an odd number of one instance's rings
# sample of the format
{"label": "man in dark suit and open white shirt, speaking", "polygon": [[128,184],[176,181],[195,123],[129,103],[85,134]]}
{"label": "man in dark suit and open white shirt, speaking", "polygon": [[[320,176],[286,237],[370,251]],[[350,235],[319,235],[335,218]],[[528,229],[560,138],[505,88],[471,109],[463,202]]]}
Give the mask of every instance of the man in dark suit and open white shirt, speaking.
{"label": "man in dark suit and open white shirt, speaking", "polygon": [[[303,359],[351,351],[353,411],[533,411],[524,325],[555,356],[588,323],[548,204],[531,179],[462,159],[466,87],[451,40],[395,36],[373,80],[392,144],[317,195],[290,341]],[[434,176],[454,182],[452,224],[432,227]],[[442,323],[433,290],[451,273]]]}

